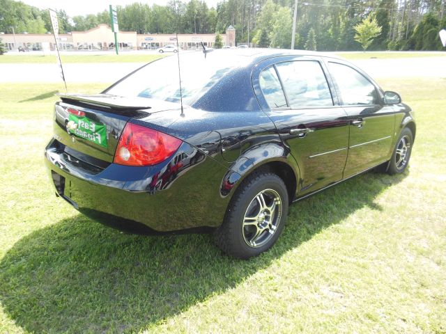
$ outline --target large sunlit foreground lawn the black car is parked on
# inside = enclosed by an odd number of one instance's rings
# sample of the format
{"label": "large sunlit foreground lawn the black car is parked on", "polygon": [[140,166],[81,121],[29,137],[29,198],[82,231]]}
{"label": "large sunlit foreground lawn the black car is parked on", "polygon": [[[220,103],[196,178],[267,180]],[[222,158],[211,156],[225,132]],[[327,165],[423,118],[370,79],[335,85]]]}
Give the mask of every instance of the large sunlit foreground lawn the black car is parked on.
{"label": "large sunlit foreground lawn the black car is parked on", "polygon": [[0,84],[0,333],[446,333],[446,79],[378,81],[416,111],[408,171],[291,205],[248,261],[206,234],[124,234],[77,213],[43,167],[63,86]]}

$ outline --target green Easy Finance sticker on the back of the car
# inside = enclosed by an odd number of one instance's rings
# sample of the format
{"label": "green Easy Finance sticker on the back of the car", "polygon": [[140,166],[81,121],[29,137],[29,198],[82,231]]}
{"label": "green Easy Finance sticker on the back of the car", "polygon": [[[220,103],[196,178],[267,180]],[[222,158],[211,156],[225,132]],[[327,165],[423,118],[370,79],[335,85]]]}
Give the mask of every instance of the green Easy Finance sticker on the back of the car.
{"label": "green Easy Finance sticker on the back of the car", "polygon": [[67,130],[69,134],[92,141],[95,144],[107,148],[107,127],[89,120],[85,116],[68,116]]}

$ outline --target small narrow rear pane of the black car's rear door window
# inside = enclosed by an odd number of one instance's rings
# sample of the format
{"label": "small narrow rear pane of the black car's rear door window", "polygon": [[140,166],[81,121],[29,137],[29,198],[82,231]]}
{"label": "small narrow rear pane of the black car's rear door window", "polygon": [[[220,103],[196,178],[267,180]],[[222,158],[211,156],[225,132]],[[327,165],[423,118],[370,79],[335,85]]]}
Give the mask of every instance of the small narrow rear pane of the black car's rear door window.
{"label": "small narrow rear pane of the black car's rear door window", "polygon": [[270,108],[281,108],[286,106],[286,100],[282,86],[274,67],[270,66],[261,72],[259,77],[260,88],[266,103]]}

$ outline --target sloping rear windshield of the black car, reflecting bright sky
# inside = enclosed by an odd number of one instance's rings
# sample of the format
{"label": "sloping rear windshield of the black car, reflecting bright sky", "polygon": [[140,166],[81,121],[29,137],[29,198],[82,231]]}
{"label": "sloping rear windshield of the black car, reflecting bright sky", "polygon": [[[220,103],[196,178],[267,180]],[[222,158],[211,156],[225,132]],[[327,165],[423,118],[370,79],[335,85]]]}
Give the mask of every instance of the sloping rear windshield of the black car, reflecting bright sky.
{"label": "sloping rear windshield of the black car, reflecting bright sky", "polygon": [[[240,57],[227,57],[227,54],[226,57],[224,54],[217,55],[217,52],[208,54],[206,59],[204,54],[198,51],[180,54],[183,103],[194,104],[222,77],[245,61],[240,60]],[[162,58],[144,66],[106,93],[180,102],[177,56]]]}

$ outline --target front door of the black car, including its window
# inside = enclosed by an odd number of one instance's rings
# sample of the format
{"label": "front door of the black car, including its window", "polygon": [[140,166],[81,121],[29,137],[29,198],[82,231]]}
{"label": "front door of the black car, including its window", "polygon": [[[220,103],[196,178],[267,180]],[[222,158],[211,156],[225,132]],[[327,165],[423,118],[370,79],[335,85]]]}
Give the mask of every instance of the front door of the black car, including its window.
{"label": "front door of the black car, including its window", "polygon": [[344,177],[350,177],[390,159],[394,109],[383,104],[373,81],[351,65],[328,61],[328,69],[350,124],[344,170]]}

